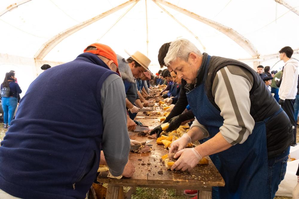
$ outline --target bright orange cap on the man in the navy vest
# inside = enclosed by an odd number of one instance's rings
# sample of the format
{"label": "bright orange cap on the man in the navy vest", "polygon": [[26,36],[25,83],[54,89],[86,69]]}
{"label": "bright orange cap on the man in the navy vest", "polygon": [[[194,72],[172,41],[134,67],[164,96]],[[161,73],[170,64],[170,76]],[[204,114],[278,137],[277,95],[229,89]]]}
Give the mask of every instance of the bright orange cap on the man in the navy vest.
{"label": "bright orange cap on the man in the navy vest", "polygon": [[92,53],[95,55],[101,55],[103,57],[106,57],[109,60],[112,60],[117,67],[116,72],[119,74],[119,76],[121,76],[120,72],[118,70],[117,55],[109,46],[107,46],[105,44],[100,44],[100,43],[94,43],[94,44],[90,44],[88,46],[96,47],[97,50],[87,50],[86,51],[86,48],[87,48],[86,47],[83,51],[84,53]]}

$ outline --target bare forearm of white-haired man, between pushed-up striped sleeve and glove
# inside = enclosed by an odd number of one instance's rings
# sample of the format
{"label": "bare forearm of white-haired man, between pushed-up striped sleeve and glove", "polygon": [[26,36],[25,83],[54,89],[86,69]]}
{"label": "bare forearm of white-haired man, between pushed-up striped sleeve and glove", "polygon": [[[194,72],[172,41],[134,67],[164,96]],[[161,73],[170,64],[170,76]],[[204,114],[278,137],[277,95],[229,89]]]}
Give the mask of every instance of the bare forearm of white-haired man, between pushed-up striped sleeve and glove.
{"label": "bare forearm of white-haired man, between pushed-up striped sleeve and glove", "polygon": [[209,139],[208,141],[204,142],[199,146],[196,146],[195,150],[199,153],[199,155],[205,157],[207,155],[222,152],[230,148],[231,146],[233,145],[229,144],[219,132],[213,138]]}

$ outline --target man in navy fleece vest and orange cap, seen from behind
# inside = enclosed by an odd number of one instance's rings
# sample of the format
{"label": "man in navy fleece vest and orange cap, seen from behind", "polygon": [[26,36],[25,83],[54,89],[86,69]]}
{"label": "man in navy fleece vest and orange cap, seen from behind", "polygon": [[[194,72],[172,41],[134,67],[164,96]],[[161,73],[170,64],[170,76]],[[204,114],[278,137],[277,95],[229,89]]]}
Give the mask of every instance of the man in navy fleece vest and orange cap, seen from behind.
{"label": "man in navy fleece vest and orange cap, seen from behind", "polygon": [[1,199],[85,198],[101,150],[113,176],[133,175],[117,67],[115,52],[96,43],[30,84],[1,142]]}

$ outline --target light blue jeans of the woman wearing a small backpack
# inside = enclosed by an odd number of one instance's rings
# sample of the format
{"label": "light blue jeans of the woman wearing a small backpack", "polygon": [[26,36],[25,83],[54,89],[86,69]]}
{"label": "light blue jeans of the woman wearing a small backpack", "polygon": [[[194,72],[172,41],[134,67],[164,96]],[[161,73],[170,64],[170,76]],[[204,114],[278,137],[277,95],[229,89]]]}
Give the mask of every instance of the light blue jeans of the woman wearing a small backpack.
{"label": "light blue jeans of the woman wearing a small backpack", "polygon": [[4,112],[4,124],[8,124],[8,126],[10,126],[10,122],[13,120],[13,115],[18,105],[18,99],[15,97],[2,97],[1,100]]}

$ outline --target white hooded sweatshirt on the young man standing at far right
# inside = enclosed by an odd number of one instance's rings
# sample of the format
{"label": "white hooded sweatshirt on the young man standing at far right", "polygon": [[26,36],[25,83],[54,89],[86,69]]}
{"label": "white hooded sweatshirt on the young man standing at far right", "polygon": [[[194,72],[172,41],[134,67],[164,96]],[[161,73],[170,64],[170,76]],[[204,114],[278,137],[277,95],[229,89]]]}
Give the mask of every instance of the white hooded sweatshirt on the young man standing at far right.
{"label": "white hooded sweatshirt on the young man standing at far right", "polygon": [[298,83],[298,61],[290,59],[286,61],[283,69],[283,78],[278,91],[279,98],[282,100],[295,99],[297,95]]}

